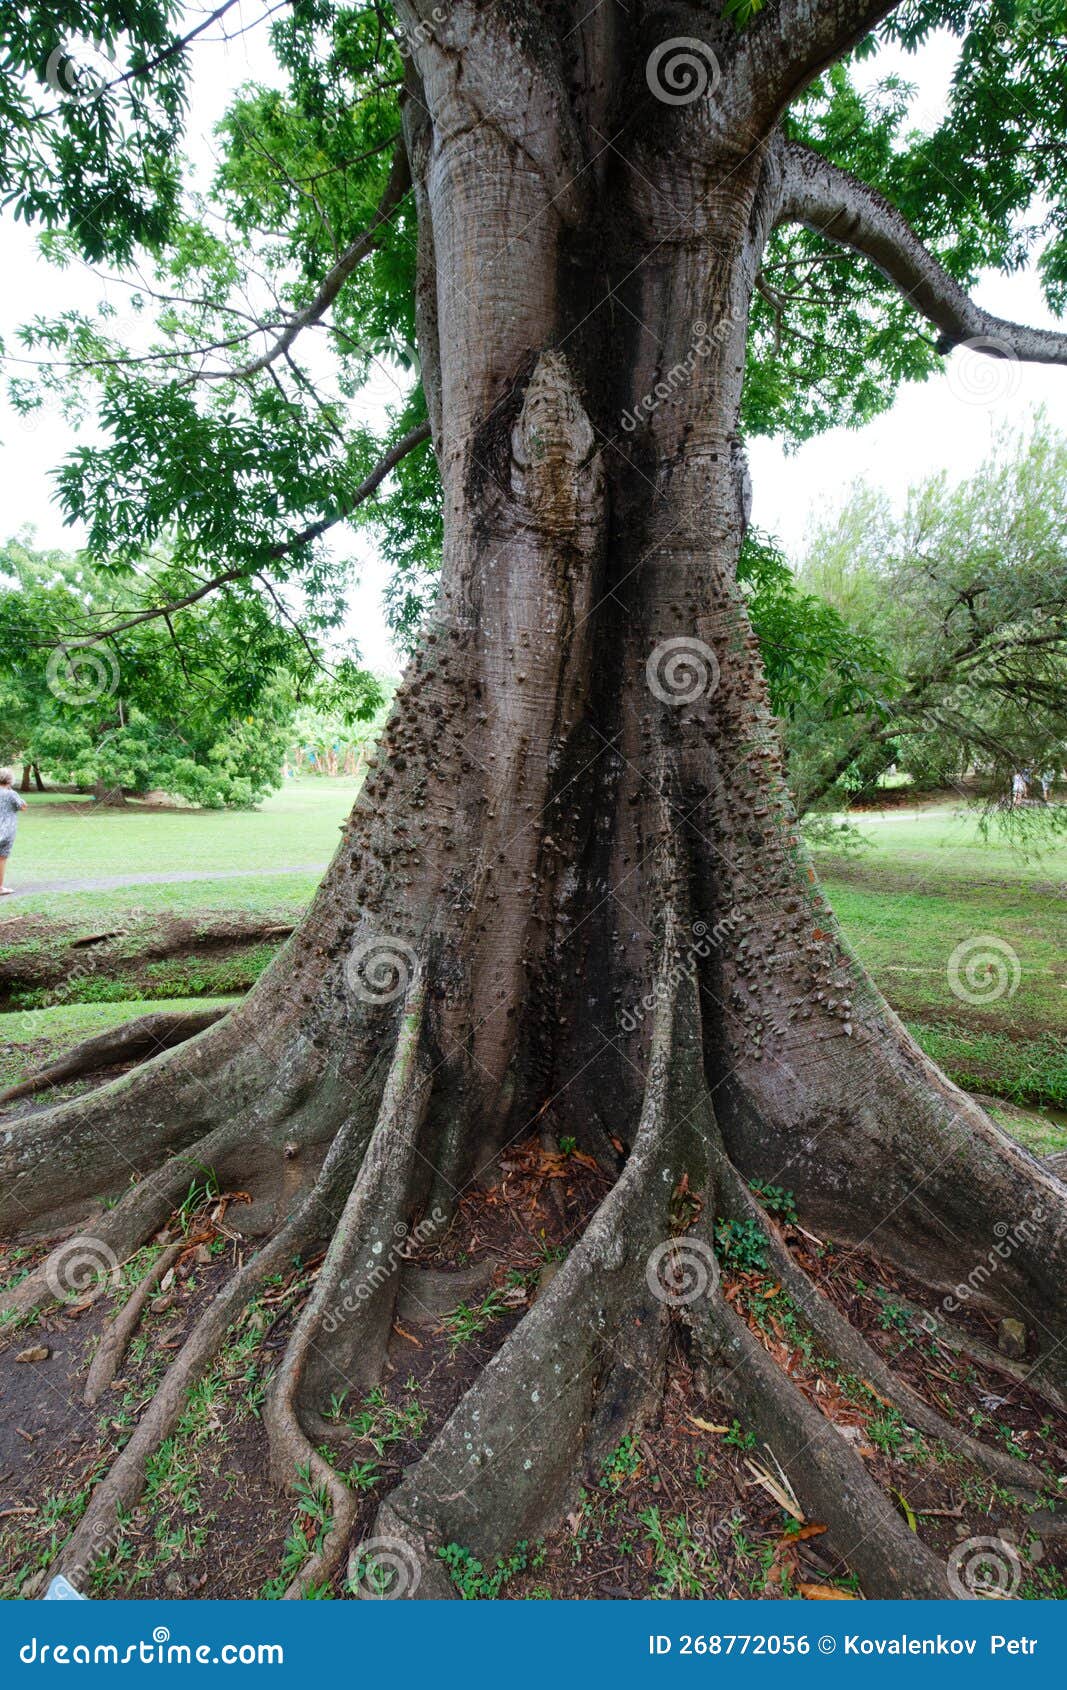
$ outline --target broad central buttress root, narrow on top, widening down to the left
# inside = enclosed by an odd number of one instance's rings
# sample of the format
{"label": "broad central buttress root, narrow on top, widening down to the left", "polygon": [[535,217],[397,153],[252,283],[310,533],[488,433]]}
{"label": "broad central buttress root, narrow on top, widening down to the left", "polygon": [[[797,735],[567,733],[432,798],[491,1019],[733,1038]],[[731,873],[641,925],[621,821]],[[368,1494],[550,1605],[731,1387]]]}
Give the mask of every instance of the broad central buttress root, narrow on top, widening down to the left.
{"label": "broad central buttress root, narrow on top, widening down to the left", "polygon": [[[695,992],[663,994],[641,1126],[619,1181],[379,1511],[372,1541],[399,1540],[418,1567],[397,1594],[445,1594],[428,1545],[458,1541],[492,1558],[534,1536],[565,1509],[582,1472],[659,1399],[668,1306],[654,1268],[671,1249],[673,1193],[702,1168],[695,1014]],[[353,1548],[353,1573],[362,1550]]]}

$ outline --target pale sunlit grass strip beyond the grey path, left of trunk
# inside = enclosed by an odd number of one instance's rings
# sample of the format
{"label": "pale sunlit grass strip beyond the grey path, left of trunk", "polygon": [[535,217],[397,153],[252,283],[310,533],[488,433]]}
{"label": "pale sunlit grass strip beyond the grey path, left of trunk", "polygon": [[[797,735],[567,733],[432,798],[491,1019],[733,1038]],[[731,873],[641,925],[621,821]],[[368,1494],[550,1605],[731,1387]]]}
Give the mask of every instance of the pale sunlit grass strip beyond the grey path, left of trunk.
{"label": "pale sunlit grass strip beyond the grey path, left of trunk", "polygon": [[[323,867],[360,782],[286,781],[257,810],[96,808],[85,798],[30,793],[10,860],[10,884],[205,869]],[[27,901],[19,902],[29,908]]]}

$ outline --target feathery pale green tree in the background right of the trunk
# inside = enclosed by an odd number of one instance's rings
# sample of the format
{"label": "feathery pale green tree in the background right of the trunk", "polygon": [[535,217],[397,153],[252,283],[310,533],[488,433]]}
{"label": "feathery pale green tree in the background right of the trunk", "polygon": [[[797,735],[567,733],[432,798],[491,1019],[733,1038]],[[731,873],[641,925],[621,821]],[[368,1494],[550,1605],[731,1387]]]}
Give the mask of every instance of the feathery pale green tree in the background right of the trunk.
{"label": "feathery pale green tree in the background right of the trunk", "polygon": [[[900,515],[854,488],[774,600],[803,652],[781,678],[754,602],[800,810],[847,803],[891,764],[920,786],[976,772],[993,801],[1016,769],[1062,769],[1065,475],[1067,441],[1038,421],[966,483],[930,477]],[[818,617],[837,619],[832,639]]]}

